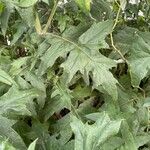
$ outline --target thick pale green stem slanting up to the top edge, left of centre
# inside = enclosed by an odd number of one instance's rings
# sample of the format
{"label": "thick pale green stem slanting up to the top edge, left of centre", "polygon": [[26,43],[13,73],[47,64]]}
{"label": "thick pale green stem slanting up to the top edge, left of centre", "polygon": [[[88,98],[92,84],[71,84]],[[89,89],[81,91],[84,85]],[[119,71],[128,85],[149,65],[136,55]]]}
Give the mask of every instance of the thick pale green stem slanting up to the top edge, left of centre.
{"label": "thick pale green stem slanting up to the top edge, left of centre", "polygon": [[49,16],[49,18],[48,18],[48,21],[47,21],[47,23],[46,23],[46,26],[44,27],[44,29],[43,29],[43,31],[42,31],[43,34],[45,34],[45,33],[48,31],[48,28],[49,28],[50,25],[51,25],[52,19],[53,19],[53,17],[54,17],[54,14],[55,14],[55,12],[56,12],[56,9],[57,9],[57,5],[58,5],[58,0],[54,0],[54,6],[53,6],[52,11],[51,11],[51,13],[50,13],[50,16]]}

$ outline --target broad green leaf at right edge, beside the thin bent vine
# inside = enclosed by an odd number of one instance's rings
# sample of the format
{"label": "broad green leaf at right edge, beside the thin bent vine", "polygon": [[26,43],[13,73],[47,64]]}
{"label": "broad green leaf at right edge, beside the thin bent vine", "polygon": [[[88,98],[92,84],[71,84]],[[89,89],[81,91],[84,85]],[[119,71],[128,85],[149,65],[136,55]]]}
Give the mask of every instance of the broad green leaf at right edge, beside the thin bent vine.
{"label": "broad green leaf at right edge, beside the thin bent vine", "polygon": [[[128,66],[133,86],[139,86],[141,80],[148,75],[150,61],[150,34],[135,28],[126,27],[119,31],[116,45],[123,54],[128,54]],[[114,54],[111,54],[114,58]]]}

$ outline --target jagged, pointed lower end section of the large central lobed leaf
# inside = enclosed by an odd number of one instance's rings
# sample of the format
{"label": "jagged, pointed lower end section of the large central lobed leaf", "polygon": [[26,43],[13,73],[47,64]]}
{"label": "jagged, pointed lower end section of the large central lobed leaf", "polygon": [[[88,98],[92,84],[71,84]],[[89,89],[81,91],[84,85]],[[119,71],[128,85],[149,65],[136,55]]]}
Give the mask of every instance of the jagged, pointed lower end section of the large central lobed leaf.
{"label": "jagged, pointed lower end section of the large central lobed leaf", "polygon": [[[61,67],[68,73],[68,82],[71,81],[73,76],[80,71],[84,76],[86,83],[89,83],[89,73],[92,72],[93,88],[102,86],[113,99],[117,99],[117,80],[113,77],[109,69],[115,67],[116,63],[101,55],[95,53],[92,55],[89,49],[82,48],[78,51],[72,51]],[[108,80],[109,79],[109,80]]]}

